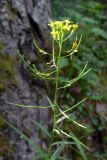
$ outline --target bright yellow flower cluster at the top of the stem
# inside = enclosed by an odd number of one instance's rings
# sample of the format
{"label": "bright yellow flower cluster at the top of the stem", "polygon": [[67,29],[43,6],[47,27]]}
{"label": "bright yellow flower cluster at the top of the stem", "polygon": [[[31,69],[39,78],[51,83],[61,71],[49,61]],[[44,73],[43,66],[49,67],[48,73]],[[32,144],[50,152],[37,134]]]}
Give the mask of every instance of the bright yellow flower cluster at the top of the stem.
{"label": "bright yellow flower cluster at the top of the stem", "polygon": [[74,32],[78,28],[78,24],[72,23],[69,19],[65,21],[54,21],[48,24],[52,31],[51,35],[54,40],[60,41],[62,36],[68,32]]}

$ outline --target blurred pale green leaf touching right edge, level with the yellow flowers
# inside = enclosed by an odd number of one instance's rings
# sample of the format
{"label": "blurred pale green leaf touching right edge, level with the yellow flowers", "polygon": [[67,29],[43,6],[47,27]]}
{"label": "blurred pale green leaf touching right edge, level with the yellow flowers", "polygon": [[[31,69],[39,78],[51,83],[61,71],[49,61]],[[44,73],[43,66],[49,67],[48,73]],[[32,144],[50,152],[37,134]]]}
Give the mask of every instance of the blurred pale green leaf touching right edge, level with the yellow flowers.
{"label": "blurred pale green leaf touching right edge, level with the yellow flowers", "polygon": [[103,29],[94,27],[91,31],[95,33],[97,36],[101,36],[107,40],[107,32],[105,32]]}

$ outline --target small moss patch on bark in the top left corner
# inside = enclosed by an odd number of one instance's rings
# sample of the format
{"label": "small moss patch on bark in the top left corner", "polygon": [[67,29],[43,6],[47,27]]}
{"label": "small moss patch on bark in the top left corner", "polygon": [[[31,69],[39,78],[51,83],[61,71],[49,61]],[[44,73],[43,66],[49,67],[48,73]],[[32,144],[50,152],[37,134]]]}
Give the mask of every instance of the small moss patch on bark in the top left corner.
{"label": "small moss patch on bark in the top left corner", "polygon": [[9,20],[14,22],[17,19],[17,15],[15,13],[15,10],[12,8],[11,3],[7,3],[7,11],[8,11],[8,16],[9,16]]}

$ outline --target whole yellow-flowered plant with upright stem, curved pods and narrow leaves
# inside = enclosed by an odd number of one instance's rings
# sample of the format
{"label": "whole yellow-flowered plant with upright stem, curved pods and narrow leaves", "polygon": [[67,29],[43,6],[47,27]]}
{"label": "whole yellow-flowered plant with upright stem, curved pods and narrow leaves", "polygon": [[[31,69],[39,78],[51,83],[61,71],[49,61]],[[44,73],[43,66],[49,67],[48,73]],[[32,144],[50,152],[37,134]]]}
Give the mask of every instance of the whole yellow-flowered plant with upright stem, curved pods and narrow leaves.
{"label": "whole yellow-flowered plant with upright stem, curved pods and narrow leaves", "polygon": [[[80,37],[79,41],[76,38],[76,40],[72,43],[71,48],[63,53],[64,43],[69,38],[71,38],[73,33],[77,30],[78,24],[74,24],[69,19],[67,19],[67,20],[64,20],[64,21],[51,21],[48,25],[51,28],[51,36],[52,36],[52,42],[53,42],[52,43],[52,53],[48,53],[48,52],[44,51],[43,49],[41,49],[37,45],[36,41],[34,40],[34,45],[38,49],[38,51],[41,54],[50,56],[51,60],[48,63],[50,65],[50,67],[49,67],[50,71],[48,73],[47,72],[44,73],[42,71],[39,71],[34,64],[29,65],[27,63],[27,61],[25,61],[24,57],[20,54],[19,51],[18,51],[18,54],[19,54],[20,58],[22,59],[22,61],[26,64],[26,66],[36,76],[38,76],[38,77],[40,77],[44,80],[49,80],[49,81],[54,81],[55,82],[54,83],[55,84],[54,99],[53,99],[53,101],[51,101],[48,98],[49,106],[25,106],[25,105],[20,105],[20,104],[15,104],[15,105],[26,107],[26,108],[32,107],[32,108],[51,108],[52,109],[53,129],[52,129],[51,133],[44,130],[43,127],[40,124],[36,123],[38,125],[38,127],[40,129],[42,129],[42,131],[44,131],[44,133],[46,133],[50,137],[50,142],[49,142],[49,147],[48,147],[47,154],[42,152],[42,155],[39,155],[38,159],[41,159],[41,160],[43,160],[43,159],[44,160],[56,160],[56,159],[61,159],[62,160],[62,159],[65,159],[66,160],[66,158],[64,158],[64,155],[63,154],[61,155],[62,150],[64,149],[65,145],[75,144],[77,146],[79,152],[80,152],[80,155],[83,157],[83,160],[86,160],[87,157],[85,155],[84,148],[87,148],[87,147],[81,141],[79,141],[78,138],[76,138],[76,136],[73,133],[69,134],[66,131],[64,131],[63,126],[60,127],[60,123],[62,123],[63,121],[66,121],[68,119],[72,123],[75,123],[76,125],[78,125],[79,127],[86,128],[85,126],[77,123],[72,118],[72,110],[74,108],[78,107],[79,104],[84,102],[85,99],[79,101],[74,106],[64,110],[62,108],[62,105],[61,106],[58,105],[58,94],[59,94],[59,90],[63,90],[64,88],[70,87],[73,83],[75,83],[77,80],[79,80],[84,75],[86,75],[91,69],[86,71],[86,67],[87,67],[87,64],[86,64],[84,66],[83,70],[81,71],[81,73],[76,78],[69,79],[69,80],[62,79],[62,81],[63,81],[62,84],[63,85],[60,84],[60,76],[61,76],[60,75],[61,74],[60,65],[61,65],[61,61],[64,58],[72,57],[73,54],[78,51],[78,46],[79,46],[81,37]],[[58,45],[58,48],[59,48],[58,53],[55,53],[55,47],[54,47],[55,45]],[[58,137],[60,137],[60,141],[56,141],[56,135]],[[64,138],[62,139],[62,137],[64,137]],[[70,139],[73,140],[73,142],[70,141]],[[54,146],[57,147],[56,150],[55,150]],[[40,152],[40,154],[41,154],[41,152]],[[35,159],[37,159],[37,158],[35,157]]]}

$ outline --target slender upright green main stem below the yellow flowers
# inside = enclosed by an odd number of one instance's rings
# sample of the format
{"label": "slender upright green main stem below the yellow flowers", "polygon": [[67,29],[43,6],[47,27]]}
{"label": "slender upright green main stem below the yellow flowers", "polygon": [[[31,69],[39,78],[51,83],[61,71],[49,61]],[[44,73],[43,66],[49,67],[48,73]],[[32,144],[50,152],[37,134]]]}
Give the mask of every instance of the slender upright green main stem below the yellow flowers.
{"label": "slender upright green main stem below the yellow flowers", "polygon": [[62,40],[59,44],[59,55],[58,55],[58,61],[57,61],[57,69],[56,69],[56,84],[55,84],[55,96],[54,96],[54,117],[53,117],[53,129],[51,132],[51,139],[50,139],[50,145],[48,149],[48,160],[50,160],[51,151],[52,151],[52,143],[54,141],[54,132],[56,129],[56,120],[57,120],[57,97],[58,97],[58,85],[59,85],[59,64],[60,64],[60,58],[61,58],[61,52],[62,52]]}

